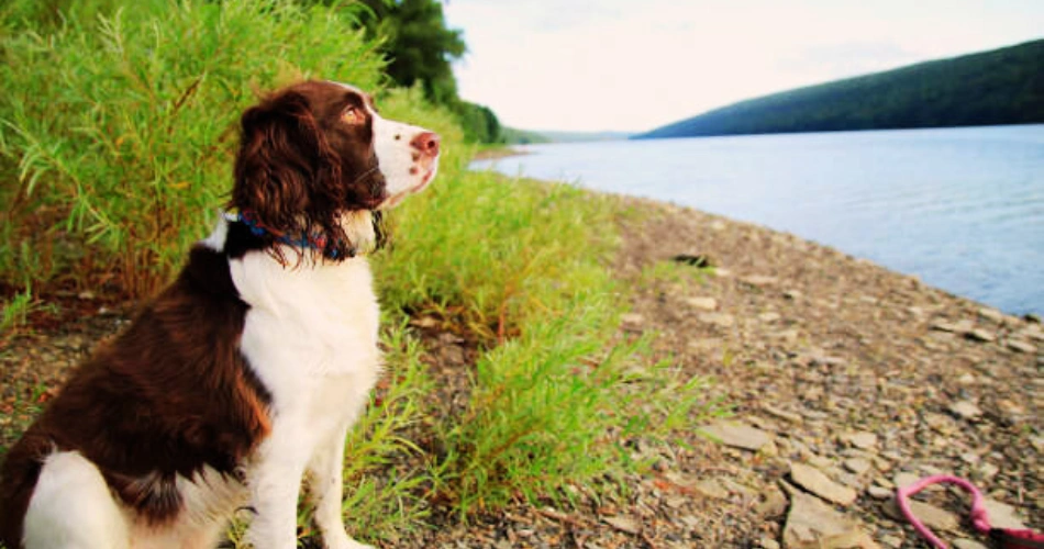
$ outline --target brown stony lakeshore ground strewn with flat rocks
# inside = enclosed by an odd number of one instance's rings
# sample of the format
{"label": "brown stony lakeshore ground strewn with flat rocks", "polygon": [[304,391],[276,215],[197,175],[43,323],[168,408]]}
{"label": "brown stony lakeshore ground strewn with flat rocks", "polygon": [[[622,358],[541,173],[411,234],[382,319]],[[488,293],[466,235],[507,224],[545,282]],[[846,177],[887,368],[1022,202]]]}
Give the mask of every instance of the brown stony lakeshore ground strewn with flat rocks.
{"label": "brown stony lakeshore ground strewn with flat rocks", "polygon": [[[925,547],[892,497],[933,473],[973,480],[995,525],[1044,527],[1037,320],[790,235],[620,200],[613,269],[633,289],[621,333],[658,333],[657,354],[711,379],[707,401],[731,414],[693,424],[678,445],[636,445],[653,468],[627,479],[624,500],[518,505],[396,547]],[[689,265],[697,256],[713,268]],[[9,413],[14,388],[38,386],[45,400],[123,322],[105,313],[7,345],[0,432],[27,419]],[[433,363],[474,357],[463,341],[430,336]],[[919,515],[954,547],[986,547],[964,494],[933,489],[919,500]]]}

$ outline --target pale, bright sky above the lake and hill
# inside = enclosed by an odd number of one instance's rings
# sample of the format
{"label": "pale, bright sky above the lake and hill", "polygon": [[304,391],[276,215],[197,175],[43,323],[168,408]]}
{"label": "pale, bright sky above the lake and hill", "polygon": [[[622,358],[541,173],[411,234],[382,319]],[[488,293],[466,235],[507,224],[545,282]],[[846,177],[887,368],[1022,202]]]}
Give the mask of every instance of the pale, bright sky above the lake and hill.
{"label": "pale, bright sky above the lake and hill", "polygon": [[462,98],[641,132],[743,99],[1044,37],[1044,0],[446,0]]}

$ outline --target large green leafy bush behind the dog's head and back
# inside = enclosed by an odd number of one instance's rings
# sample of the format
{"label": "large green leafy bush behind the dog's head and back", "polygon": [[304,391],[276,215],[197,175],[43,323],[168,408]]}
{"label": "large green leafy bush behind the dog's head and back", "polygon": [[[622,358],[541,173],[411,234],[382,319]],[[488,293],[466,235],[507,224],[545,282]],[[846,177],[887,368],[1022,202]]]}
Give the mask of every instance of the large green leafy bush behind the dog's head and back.
{"label": "large green leafy bush behind the dog's head and back", "polygon": [[[345,10],[127,2],[38,31],[18,30],[29,8],[11,10],[0,38],[0,198],[19,227],[0,250],[9,281],[75,272],[151,293],[231,188],[237,116],[258,90],[381,79],[384,61]],[[47,265],[27,265],[24,243]]]}

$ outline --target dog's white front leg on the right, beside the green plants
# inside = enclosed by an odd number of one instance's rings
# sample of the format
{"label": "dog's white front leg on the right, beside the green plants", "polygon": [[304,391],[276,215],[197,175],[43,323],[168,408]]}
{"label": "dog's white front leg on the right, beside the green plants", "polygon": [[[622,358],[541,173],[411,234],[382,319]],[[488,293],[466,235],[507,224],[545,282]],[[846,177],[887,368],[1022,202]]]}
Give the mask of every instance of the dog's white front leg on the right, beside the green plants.
{"label": "dog's white front leg on the right, beside the green plants", "polygon": [[341,500],[344,495],[344,439],[347,426],[335,430],[316,448],[309,462],[309,493],[315,508],[315,525],[329,549],[371,549],[352,539],[344,530]]}

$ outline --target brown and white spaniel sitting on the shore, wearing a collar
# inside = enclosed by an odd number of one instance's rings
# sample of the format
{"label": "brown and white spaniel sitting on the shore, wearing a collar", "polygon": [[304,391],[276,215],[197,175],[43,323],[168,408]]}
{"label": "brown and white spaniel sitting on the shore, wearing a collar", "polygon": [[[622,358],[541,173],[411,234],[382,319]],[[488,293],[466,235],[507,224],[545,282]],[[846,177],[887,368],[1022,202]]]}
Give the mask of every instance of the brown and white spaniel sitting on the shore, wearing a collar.
{"label": "brown and white spaniel sitting on the shore, wearing a collar", "polygon": [[231,206],[177,280],[95,351],[8,453],[9,548],[215,547],[236,509],[292,548],[309,478],[326,547],[345,435],[380,369],[366,254],[424,189],[438,136],[349,86],[307,81],[242,119]]}

